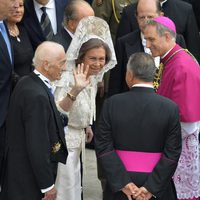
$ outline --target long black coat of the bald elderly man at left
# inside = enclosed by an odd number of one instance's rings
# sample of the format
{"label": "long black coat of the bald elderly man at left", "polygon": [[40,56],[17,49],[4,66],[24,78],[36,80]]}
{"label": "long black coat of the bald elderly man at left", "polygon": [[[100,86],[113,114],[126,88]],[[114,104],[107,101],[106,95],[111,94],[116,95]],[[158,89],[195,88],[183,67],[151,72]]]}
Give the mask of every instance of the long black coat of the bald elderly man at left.
{"label": "long black coat of the bald elderly man at left", "polygon": [[[66,162],[67,148],[53,95],[34,73],[17,84],[6,127],[2,199],[41,200],[40,190],[54,184],[57,163]],[[61,148],[53,152],[58,142]]]}

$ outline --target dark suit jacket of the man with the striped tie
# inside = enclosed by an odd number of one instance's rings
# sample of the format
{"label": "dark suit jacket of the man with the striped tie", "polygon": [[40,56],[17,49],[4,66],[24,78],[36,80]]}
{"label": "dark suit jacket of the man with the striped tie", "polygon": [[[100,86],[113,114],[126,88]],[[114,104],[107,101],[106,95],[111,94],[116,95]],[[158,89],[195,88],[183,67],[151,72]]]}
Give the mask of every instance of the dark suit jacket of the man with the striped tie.
{"label": "dark suit jacket of the man with the striped tie", "polygon": [[[56,6],[56,20],[57,20],[57,32],[60,31],[64,16],[64,9],[67,5],[68,0],[55,0]],[[24,3],[25,13],[23,17],[23,24],[29,34],[33,48],[36,49],[37,46],[46,40],[40,22],[37,18],[33,0],[26,0]]]}

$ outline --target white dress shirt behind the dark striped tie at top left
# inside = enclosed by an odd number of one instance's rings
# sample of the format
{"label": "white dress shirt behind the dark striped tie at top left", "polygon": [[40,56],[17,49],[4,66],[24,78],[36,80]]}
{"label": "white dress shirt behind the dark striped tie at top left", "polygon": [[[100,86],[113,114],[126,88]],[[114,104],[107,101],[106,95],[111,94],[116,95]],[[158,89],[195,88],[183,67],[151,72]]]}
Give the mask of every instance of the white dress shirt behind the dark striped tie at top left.
{"label": "white dress shirt behind the dark striped tie at top left", "polygon": [[44,6],[42,4],[39,4],[38,2],[36,2],[35,0],[33,0],[34,3],[34,8],[35,8],[35,12],[38,18],[38,21],[41,21],[41,17],[42,17],[42,7],[46,7],[46,12],[49,16],[49,19],[51,21],[51,26],[53,29],[53,33],[54,35],[57,33],[57,20],[56,20],[56,5],[55,5],[55,0],[49,0],[49,2]]}

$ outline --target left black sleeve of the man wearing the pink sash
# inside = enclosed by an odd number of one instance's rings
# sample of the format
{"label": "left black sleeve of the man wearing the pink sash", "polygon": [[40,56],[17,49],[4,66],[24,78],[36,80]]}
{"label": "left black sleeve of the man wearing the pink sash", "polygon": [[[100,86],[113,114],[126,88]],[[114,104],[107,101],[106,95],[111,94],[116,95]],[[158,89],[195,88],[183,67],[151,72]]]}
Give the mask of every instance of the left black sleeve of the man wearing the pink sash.
{"label": "left black sleeve of the man wearing the pink sash", "polygon": [[111,189],[113,192],[117,192],[132,181],[114,149],[111,116],[109,113],[110,106],[109,100],[105,101],[94,139],[97,158],[105,170]]}

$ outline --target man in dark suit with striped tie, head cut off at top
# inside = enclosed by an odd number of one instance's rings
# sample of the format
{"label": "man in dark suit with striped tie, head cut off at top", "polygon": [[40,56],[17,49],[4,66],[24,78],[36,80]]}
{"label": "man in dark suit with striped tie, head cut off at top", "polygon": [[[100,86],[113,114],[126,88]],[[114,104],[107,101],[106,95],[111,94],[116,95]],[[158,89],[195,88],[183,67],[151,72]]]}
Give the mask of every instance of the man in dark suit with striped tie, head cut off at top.
{"label": "man in dark suit with striped tie, head cut off at top", "polygon": [[34,49],[41,42],[51,40],[53,35],[60,31],[67,2],[68,0],[26,0],[24,2],[23,24]]}

